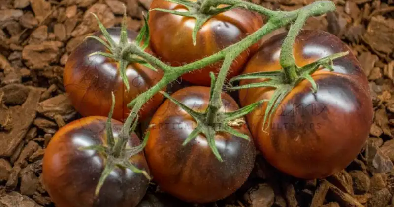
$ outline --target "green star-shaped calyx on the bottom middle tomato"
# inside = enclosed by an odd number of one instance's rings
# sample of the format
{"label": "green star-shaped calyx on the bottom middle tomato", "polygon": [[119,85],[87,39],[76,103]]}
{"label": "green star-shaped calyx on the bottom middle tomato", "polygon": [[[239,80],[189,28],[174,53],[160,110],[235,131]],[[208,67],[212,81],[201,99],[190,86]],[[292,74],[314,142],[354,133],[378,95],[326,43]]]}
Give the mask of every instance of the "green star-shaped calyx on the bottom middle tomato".
{"label": "green star-shaped calyx on the bottom middle tomato", "polygon": [[[212,78],[211,83],[212,85],[214,85],[215,79],[212,72],[210,73],[210,76]],[[185,141],[183,142],[183,146],[187,145],[191,140],[195,139],[198,135],[203,134],[213,154],[221,162],[223,161],[223,159],[215,143],[215,135],[217,134],[217,132],[230,133],[231,135],[250,141],[250,137],[248,135],[236,131],[233,127],[244,124],[245,121],[243,120],[243,116],[250,113],[256,107],[258,107],[260,104],[266,101],[266,100],[262,100],[232,112],[216,111],[212,116],[210,115],[213,114],[212,110],[214,109],[212,107],[208,106],[208,108],[204,112],[197,112],[189,108],[185,104],[180,103],[178,100],[174,99],[166,92],[161,91],[161,93],[171,102],[173,102],[174,104],[182,108],[184,111],[186,111],[197,122],[196,128],[190,133],[188,138],[185,139]],[[213,94],[214,94],[213,87],[211,87],[210,100],[209,100],[210,103],[212,102]]]}

